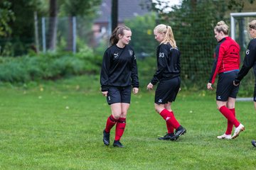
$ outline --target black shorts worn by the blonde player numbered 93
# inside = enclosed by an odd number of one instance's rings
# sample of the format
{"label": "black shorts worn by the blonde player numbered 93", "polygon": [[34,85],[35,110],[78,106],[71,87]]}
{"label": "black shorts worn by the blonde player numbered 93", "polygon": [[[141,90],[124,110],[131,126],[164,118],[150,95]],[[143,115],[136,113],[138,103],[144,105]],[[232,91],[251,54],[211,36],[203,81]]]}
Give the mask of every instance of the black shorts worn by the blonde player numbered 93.
{"label": "black shorts worn by the blonde player numbered 93", "polygon": [[181,87],[181,78],[174,77],[173,79],[165,79],[159,81],[156,88],[155,103],[165,104],[175,101],[178,90]]}

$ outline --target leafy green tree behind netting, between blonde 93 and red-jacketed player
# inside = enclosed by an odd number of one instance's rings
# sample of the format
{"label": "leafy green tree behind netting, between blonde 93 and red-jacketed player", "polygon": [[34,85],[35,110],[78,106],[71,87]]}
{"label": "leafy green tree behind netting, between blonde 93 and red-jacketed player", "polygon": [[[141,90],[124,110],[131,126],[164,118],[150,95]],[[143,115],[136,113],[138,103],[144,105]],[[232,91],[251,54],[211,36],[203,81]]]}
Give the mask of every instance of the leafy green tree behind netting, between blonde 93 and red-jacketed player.
{"label": "leafy green tree behind netting, between blonde 93 and red-jacketed player", "polygon": [[151,9],[158,13],[158,22],[171,26],[174,31],[181,50],[181,77],[186,82],[205,85],[199,82],[207,81],[212,67],[217,45],[213,28],[220,20],[230,21],[225,11],[238,8],[234,1],[242,8],[244,2],[240,0],[183,0],[181,5],[172,7],[173,11],[165,13],[163,8],[155,8],[156,4],[152,4]]}

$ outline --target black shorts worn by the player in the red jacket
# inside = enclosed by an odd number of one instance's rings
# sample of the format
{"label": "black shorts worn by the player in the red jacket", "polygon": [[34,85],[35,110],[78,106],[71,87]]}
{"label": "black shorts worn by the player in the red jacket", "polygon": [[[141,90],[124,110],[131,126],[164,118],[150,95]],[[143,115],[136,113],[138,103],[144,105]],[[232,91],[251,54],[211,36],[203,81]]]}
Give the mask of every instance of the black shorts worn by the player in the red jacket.
{"label": "black shorts worn by the player in the red jacket", "polygon": [[218,74],[218,84],[216,89],[216,101],[228,101],[228,98],[236,98],[239,86],[233,85],[233,80],[238,75],[238,70],[223,72]]}

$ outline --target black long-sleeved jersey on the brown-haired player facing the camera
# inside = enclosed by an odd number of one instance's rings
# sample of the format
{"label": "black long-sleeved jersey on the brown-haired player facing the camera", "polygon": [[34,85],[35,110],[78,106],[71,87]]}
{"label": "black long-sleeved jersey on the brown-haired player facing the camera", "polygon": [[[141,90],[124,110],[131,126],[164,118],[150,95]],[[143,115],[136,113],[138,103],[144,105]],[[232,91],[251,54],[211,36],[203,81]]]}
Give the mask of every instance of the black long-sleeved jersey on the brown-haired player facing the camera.
{"label": "black long-sleeved jersey on the brown-haired player facing the camera", "polygon": [[100,84],[102,91],[107,91],[109,86],[139,87],[137,61],[131,46],[119,48],[112,45],[107,48],[102,61]]}

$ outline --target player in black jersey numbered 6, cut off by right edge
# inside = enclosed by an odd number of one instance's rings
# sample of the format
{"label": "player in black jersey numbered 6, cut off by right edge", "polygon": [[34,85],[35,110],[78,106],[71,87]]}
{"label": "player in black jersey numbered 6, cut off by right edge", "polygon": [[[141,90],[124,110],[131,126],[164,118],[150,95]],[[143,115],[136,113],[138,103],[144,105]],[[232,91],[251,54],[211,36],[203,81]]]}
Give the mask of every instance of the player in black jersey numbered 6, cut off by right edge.
{"label": "player in black jersey numbered 6, cut off by right edge", "polygon": [[[238,73],[238,77],[235,78],[234,85],[238,86],[243,77],[245,77],[245,75],[253,67],[253,72],[255,74],[255,89],[253,101],[256,110],[256,20],[253,20],[249,23],[249,33],[250,36],[252,37],[252,40],[250,40],[249,42],[249,45],[245,52],[245,59],[242,64],[242,69]],[[255,140],[252,140],[252,145],[256,147]]]}

